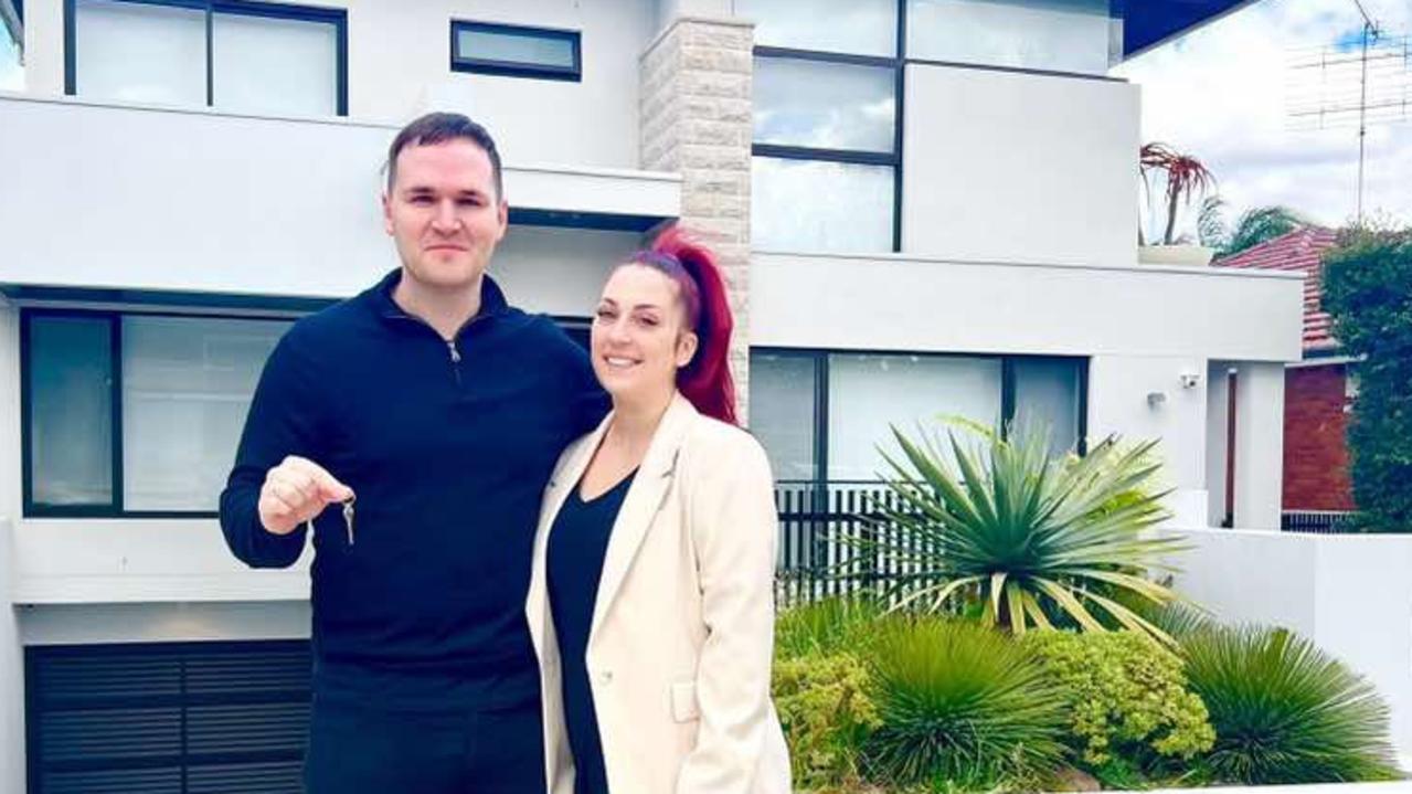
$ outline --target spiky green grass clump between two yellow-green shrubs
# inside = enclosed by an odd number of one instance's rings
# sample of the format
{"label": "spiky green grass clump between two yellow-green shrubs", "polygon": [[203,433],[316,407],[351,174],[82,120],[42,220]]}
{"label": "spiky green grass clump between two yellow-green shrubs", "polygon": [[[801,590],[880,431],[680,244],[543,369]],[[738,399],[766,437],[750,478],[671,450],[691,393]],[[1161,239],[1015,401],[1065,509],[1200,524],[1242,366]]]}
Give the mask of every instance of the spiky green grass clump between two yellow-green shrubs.
{"label": "spiky green grass clump between two yellow-green shrubs", "polygon": [[888,784],[1012,786],[1063,756],[1063,701],[1021,647],[974,623],[894,619],[874,646],[882,725],[866,745]]}

